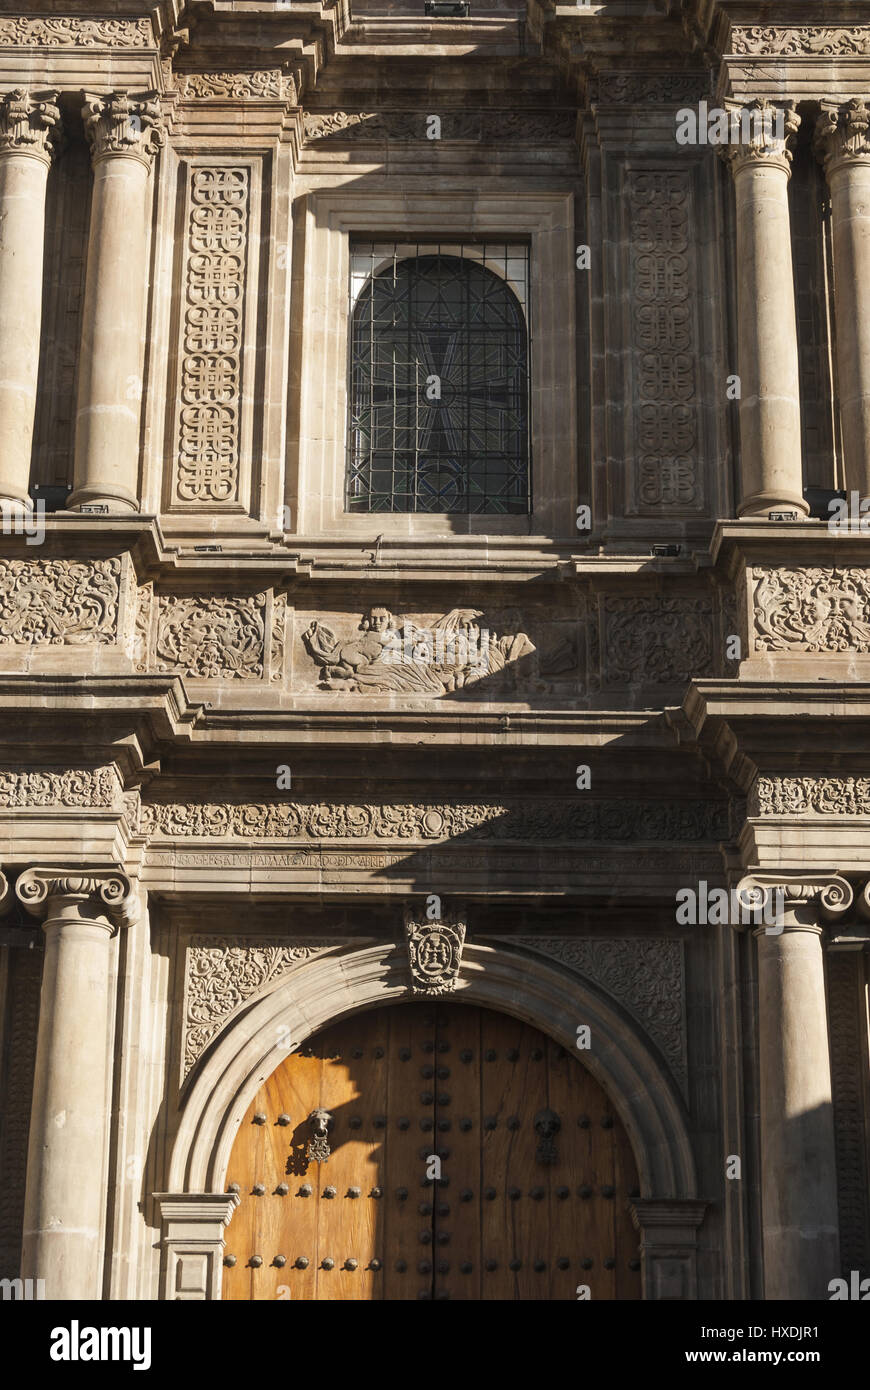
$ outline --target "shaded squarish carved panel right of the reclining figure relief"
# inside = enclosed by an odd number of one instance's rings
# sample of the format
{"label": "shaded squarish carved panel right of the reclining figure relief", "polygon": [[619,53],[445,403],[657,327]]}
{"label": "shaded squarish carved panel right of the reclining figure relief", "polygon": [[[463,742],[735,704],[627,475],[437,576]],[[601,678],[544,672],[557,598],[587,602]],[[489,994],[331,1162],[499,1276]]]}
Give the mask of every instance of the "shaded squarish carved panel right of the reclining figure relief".
{"label": "shaded squarish carved panel right of the reclining figure relief", "polygon": [[712,598],[605,599],[606,685],[673,685],[713,674]]}

